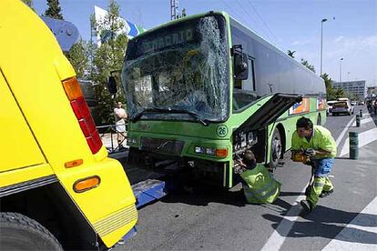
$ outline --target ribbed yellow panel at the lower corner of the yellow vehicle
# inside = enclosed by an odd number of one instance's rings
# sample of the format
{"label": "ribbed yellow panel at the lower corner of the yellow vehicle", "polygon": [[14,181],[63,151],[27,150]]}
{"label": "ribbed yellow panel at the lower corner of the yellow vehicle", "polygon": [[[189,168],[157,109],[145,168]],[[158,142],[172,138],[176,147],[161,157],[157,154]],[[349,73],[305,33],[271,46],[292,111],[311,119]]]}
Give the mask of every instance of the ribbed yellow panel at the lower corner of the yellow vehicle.
{"label": "ribbed yellow panel at the lower corner of the yellow vehicle", "polygon": [[106,236],[134,220],[138,220],[138,210],[135,205],[131,205],[97,221],[97,223],[94,224],[94,228],[99,236]]}

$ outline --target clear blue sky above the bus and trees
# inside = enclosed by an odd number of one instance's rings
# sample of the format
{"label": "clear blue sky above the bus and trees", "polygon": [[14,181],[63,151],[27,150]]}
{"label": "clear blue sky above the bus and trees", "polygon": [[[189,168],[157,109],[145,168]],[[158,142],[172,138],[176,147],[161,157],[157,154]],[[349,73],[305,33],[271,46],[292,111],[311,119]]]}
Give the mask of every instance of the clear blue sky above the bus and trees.
{"label": "clear blue sky above the bus and trees", "polygon": [[[323,72],[339,81],[366,80],[377,85],[377,0],[178,0],[188,15],[224,10],[263,36],[280,50],[296,51],[320,74],[321,19],[323,23]],[[170,19],[170,0],[118,0],[120,15],[146,28]],[[60,0],[67,21],[80,35],[90,36],[89,15],[94,5],[107,8],[107,0]],[[38,14],[46,0],[34,0]]]}

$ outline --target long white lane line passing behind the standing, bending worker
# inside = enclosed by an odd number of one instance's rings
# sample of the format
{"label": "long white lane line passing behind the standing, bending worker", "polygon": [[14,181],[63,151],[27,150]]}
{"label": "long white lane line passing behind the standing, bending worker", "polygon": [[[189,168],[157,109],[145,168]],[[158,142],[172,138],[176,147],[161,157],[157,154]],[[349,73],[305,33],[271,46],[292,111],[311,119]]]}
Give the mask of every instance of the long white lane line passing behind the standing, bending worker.
{"label": "long white lane line passing behind the standing, bending worker", "polygon": [[[336,143],[337,148],[339,144],[341,143],[342,137],[345,135],[348,128],[352,125],[352,122],[354,119],[355,119],[355,116],[352,117],[352,119],[347,124],[347,126],[345,126],[344,129],[341,131],[341,135],[336,139],[335,143]],[[305,193],[305,188],[301,191],[301,193],[302,194]],[[285,238],[290,233],[290,229],[292,228],[293,224],[296,222],[297,218],[300,215],[300,212],[301,212],[300,201],[302,199],[305,199],[305,196],[297,197],[296,204],[290,207],[290,210],[288,210],[286,216],[282,218],[279,226],[273,231],[270,238],[261,248],[261,251],[270,251],[270,250],[275,251],[275,250],[280,249],[280,247],[283,245],[285,241]]]}

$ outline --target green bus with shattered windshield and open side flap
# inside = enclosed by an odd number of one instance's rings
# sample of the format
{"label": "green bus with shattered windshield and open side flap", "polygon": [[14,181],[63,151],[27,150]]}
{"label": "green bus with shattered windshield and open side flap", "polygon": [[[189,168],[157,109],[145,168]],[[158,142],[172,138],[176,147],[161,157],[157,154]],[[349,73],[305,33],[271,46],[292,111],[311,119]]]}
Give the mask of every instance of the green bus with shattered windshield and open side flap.
{"label": "green bus with shattered windshield and open side flap", "polygon": [[323,80],[224,12],[131,39],[121,79],[129,157],[177,161],[228,188],[246,149],[273,170],[301,115],[326,119]]}

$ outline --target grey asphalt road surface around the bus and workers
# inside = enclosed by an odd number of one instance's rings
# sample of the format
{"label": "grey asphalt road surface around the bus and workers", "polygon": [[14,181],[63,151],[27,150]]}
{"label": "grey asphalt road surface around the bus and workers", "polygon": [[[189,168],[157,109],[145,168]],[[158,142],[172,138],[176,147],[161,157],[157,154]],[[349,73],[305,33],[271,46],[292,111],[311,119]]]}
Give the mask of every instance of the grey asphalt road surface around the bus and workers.
{"label": "grey asphalt road surface around the bus and workers", "polygon": [[[328,116],[325,126],[337,139],[353,116]],[[338,151],[349,131],[375,128],[377,115],[372,118],[374,123],[346,128]],[[266,246],[272,250],[321,250],[334,240],[348,247],[355,243],[377,245],[377,216],[359,214],[377,195],[376,149],[377,141],[373,141],[360,148],[358,160],[338,157],[331,178],[335,192],[321,199],[309,215],[295,208],[311,170],[292,163],[287,154],[286,164],[275,172],[283,186],[272,205],[245,205],[237,186],[229,192],[202,189],[166,196],[138,211],[137,236],[116,250],[260,250]],[[350,226],[356,216],[359,226]],[[367,231],[362,228],[365,226],[374,230]],[[352,235],[344,236],[344,230]]]}

